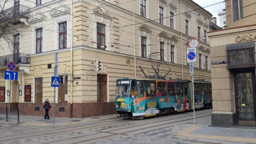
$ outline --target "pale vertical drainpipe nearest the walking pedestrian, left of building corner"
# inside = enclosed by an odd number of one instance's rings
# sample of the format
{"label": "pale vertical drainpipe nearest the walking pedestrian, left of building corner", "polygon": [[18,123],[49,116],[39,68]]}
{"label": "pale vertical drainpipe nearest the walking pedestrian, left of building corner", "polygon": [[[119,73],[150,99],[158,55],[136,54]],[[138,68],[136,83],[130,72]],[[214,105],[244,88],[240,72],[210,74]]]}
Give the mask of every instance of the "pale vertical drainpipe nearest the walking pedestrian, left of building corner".
{"label": "pale vertical drainpipe nearest the walking pedestrian, left of building corner", "polygon": [[70,12],[71,12],[71,20],[70,20],[70,27],[71,27],[71,38],[70,38],[70,118],[73,117],[73,1],[70,0]]}

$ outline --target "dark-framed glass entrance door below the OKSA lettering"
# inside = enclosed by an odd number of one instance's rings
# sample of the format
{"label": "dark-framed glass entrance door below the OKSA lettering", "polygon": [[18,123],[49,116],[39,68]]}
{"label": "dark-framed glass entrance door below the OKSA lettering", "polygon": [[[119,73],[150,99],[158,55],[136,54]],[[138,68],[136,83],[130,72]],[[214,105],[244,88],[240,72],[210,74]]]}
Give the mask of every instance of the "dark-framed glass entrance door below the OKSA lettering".
{"label": "dark-framed glass entrance door below the OKSA lettering", "polygon": [[235,72],[237,125],[256,126],[255,71]]}

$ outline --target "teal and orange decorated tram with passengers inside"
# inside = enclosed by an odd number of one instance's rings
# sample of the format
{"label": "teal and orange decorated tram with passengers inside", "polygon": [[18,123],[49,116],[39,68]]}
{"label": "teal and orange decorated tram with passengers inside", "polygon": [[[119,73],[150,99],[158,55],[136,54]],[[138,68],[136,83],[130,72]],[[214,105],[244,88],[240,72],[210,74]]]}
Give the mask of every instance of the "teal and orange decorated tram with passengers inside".
{"label": "teal and orange decorated tram with passengers inside", "polygon": [[[212,105],[211,83],[194,81],[195,108]],[[192,82],[155,78],[117,79],[115,107],[118,117],[144,117],[193,109]]]}

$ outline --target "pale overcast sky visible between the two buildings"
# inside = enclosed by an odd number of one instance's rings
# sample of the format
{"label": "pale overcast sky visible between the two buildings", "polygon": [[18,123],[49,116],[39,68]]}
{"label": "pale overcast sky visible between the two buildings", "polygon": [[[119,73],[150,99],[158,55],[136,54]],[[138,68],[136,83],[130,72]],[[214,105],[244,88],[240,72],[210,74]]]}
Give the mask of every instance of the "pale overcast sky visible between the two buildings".
{"label": "pale overcast sky visible between the two buildings", "polygon": [[[205,6],[208,6],[208,5],[211,5],[211,4],[222,2],[224,0],[193,0],[193,1],[195,3],[197,3],[198,5],[200,5],[201,7],[205,7]],[[217,18],[217,25],[219,26],[220,22],[219,22],[218,12],[222,11],[222,9],[225,9],[225,3],[219,3],[219,4],[216,4],[216,5],[213,5],[213,6],[206,7],[204,9],[209,11],[213,15],[213,17]]]}

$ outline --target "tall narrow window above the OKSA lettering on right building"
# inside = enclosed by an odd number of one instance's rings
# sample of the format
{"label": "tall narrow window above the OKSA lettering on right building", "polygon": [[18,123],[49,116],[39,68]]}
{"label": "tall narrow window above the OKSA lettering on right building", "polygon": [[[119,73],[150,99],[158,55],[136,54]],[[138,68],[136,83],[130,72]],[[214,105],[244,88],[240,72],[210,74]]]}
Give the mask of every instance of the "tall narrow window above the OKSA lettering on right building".
{"label": "tall narrow window above the OKSA lettering on right building", "polygon": [[232,0],[233,22],[243,18],[243,0]]}

